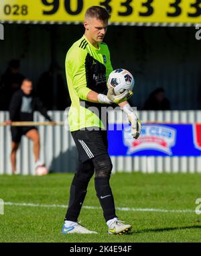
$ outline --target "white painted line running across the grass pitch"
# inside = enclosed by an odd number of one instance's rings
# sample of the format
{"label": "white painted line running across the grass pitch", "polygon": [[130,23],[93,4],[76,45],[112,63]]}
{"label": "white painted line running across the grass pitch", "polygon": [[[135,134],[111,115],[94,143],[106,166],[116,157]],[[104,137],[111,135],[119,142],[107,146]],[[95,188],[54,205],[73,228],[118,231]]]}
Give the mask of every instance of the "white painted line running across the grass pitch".
{"label": "white painted line running across the grass pitch", "polygon": [[[25,207],[45,207],[45,208],[67,208],[65,204],[31,204],[31,203],[15,203],[15,202],[4,202],[7,206],[25,206]],[[96,206],[83,206],[85,209],[98,210],[100,207]],[[128,208],[128,207],[117,207],[117,210],[126,212],[175,212],[175,213],[196,213],[201,214],[201,210],[166,210],[166,209],[155,209],[155,208]]]}

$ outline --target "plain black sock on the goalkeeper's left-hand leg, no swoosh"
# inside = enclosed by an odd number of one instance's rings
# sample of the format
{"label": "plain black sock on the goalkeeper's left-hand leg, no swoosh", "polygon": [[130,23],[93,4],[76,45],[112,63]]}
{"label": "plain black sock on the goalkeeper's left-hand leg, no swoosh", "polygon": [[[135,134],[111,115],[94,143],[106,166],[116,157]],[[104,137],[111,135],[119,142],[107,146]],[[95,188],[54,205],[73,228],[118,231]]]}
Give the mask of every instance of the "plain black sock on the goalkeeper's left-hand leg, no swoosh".
{"label": "plain black sock on the goalkeeper's left-hand leg, no swoosh", "polygon": [[78,216],[86,196],[87,186],[88,182],[81,181],[76,177],[76,174],[74,175],[74,179],[72,180],[70,187],[70,199],[65,220],[74,222],[78,221]]}

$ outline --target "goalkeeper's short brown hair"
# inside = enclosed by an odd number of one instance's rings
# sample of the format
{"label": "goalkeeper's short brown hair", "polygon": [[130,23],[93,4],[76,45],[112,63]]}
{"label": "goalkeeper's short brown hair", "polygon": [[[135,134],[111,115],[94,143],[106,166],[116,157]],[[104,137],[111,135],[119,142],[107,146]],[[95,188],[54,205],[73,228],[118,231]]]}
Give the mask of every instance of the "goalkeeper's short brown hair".
{"label": "goalkeeper's short brown hair", "polygon": [[95,17],[100,20],[109,20],[111,14],[105,7],[94,5],[86,9],[85,17]]}

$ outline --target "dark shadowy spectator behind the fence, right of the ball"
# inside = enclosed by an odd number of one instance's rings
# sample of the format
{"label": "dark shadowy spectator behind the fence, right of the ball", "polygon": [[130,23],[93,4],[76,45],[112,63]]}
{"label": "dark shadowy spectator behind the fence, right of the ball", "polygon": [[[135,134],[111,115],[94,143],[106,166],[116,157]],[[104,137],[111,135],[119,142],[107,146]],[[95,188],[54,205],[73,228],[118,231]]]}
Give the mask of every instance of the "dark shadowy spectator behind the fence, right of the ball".
{"label": "dark shadowy spectator behind the fence, right of the ball", "polygon": [[170,110],[170,101],[162,87],[155,89],[145,101],[143,110]]}

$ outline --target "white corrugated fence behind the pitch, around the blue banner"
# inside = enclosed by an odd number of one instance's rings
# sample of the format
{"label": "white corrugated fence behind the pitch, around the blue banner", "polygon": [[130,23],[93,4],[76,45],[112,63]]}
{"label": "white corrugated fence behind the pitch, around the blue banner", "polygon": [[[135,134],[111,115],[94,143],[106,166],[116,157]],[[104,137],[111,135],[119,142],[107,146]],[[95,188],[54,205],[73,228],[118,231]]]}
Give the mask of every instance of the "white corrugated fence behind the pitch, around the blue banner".
{"label": "white corrugated fence behind the pitch, around the blue banner", "polygon": [[[64,112],[49,112],[55,121],[64,121]],[[138,116],[142,122],[201,122],[201,111],[141,111]],[[0,112],[0,122],[9,118],[8,112]],[[44,118],[36,113],[35,121],[43,122]],[[121,112],[114,120],[113,112],[109,113],[109,122],[121,122]],[[76,171],[77,151],[70,132],[64,126],[40,126],[41,159],[54,172]],[[186,134],[188,136],[188,134]],[[184,138],[185,143],[185,138]],[[0,174],[11,174],[10,163],[11,134],[8,126],[0,126]],[[111,157],[113,172],[143,173],[177,173],[201,172],[200,157]],[[32,142],[23,137],[17,152],[17,169],[23,175],[34,175],[34,155]]]}

